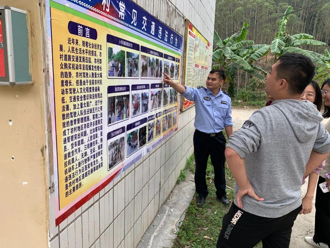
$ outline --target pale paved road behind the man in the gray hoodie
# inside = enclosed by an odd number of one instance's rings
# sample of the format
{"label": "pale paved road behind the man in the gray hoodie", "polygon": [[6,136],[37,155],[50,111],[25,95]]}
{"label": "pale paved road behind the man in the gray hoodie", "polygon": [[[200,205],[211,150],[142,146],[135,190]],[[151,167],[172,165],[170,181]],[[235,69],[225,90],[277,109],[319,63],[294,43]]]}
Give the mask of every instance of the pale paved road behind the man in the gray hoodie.
{"label": "pale paved road behind the man in the gray hoodie", "polygon": [[[250,115],[257,109],[250,108],[236,108],[232,109],[233,117],[233,130],[237,130],[242,127],[245,120],[247,120]],[[328,119],[322,121],[323,124],[327,123]],[[305,196],[307,191],[308,179],[305,184],[301,187],[302,197]],[[315,194],[313,200],[313,210],[312,213],[307,215],[298,215],[294,226],[292,228],[290,248],[313,248],[313,245],[305,242],[305,236],[314,235],[314,218],[315,218]]]}

